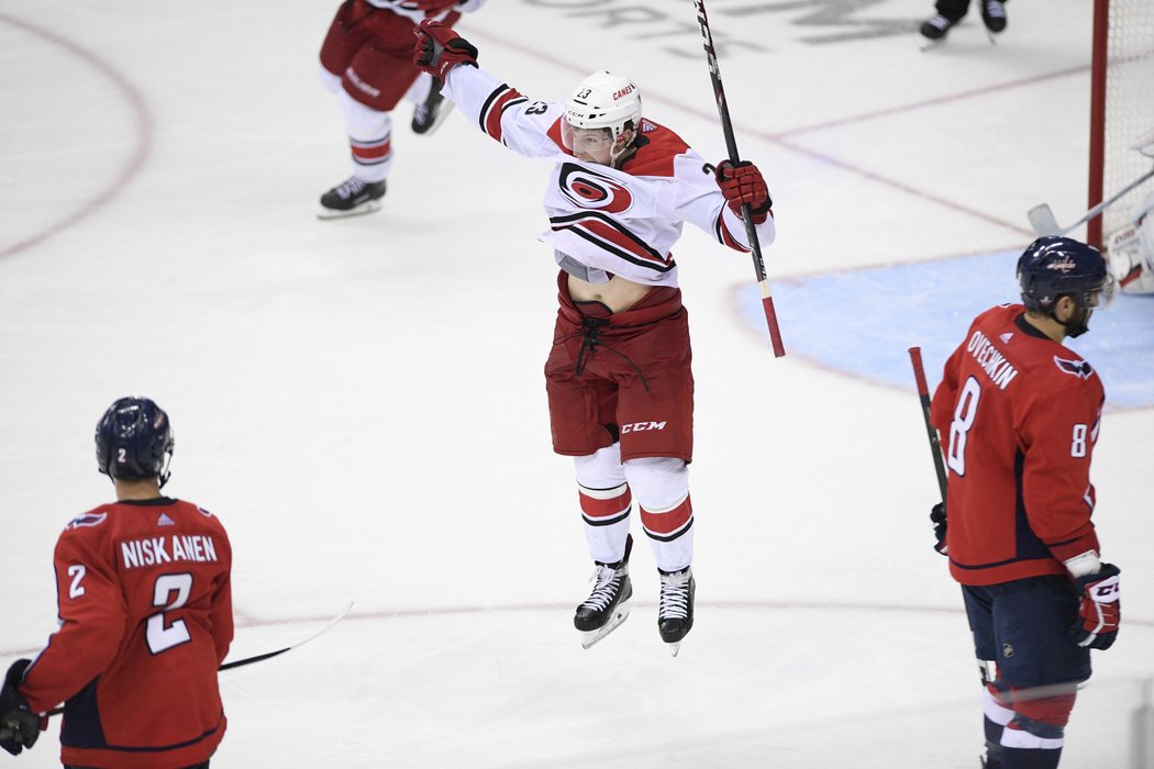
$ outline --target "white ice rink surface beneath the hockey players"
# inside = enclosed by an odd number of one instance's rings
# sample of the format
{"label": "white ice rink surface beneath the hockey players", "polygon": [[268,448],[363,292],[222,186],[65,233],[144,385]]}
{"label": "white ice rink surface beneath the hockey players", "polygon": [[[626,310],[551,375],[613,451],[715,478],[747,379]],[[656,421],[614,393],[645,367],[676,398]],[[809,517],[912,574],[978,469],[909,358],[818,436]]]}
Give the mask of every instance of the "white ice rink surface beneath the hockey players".
{"label": "white ice rink surface beneath the hockey players", "polygon": [[[166,491],[230,530],[233,657],[354,602],[222,674],[213,768],[976,767],[980,687],[900,367],[924,339],[936,382],[969,318],[1016,299],[1009,273],[991,297],[987,263],[943,265],[1020,251],[1040,202],[1085,210],[1089,6],[1014,2],[996,46],[971,18],[922,52],[924,1],[709,0],[739,148],[775,199],[770,276],[804,301],[782,294],[775,360],[743,309],[749,258],[689,229],[675,248],[698,605],[672,658],[642,542],[629,621],[590,650],[572,629],[591,565],[541,376],[548,166],[459,114],[414,136],[402,106],[384,209],[320,221],[349,174],[315,71],[335,2],[5,0],[0,663],[53,629],[55,537],[111,498],[92,427],[145,394],[178,438]],[[492,0],[459,30],[531,98],[628,74],[649,116],[725,154],[689,0]],[[862,302],[869,280],[829,289],[890,269],[887,302]],[[1087,344],[1149,339],[1154,302],[1116,308],[1129,325]],[[1149,357],[1091,360],[1154,378]],[[1124,628],[1065,769],[1127,767],[1154,669],[1149,402],[1116,404],[1096,450]],[[58,766],[55,732],[12,766]]]}

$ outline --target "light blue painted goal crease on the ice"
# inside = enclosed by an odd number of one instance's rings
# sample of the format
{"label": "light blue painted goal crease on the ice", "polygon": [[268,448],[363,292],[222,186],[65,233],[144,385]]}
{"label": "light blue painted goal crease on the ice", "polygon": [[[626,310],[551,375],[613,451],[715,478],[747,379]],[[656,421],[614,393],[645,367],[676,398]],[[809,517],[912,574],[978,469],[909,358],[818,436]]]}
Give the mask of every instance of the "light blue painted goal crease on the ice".
{"label": "light blue painted goal crease on the ice", "polygon": [[[914,387],[908,349],[922,348],[930,389],[979,312],[1019,300],[1020,251],[897,264],[773,282],[786,352],[897,387]],[[756,285],[741,310],[766,333]],[[1097,368],[1111,408],[1154,406],[1154,296],[1116,296],[1066,346]]]}

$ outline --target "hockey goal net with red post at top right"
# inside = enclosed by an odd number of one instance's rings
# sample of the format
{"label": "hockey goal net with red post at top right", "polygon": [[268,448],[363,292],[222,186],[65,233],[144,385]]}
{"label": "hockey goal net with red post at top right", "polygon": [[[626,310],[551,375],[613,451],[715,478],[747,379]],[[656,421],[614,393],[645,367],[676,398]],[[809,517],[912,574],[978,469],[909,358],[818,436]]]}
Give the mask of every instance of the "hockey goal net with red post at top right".
{"label": "hockey goal net with red post at top right", "polygon": [[[1151,171],[1133,149],[1154,131],[1154,0],[1095,0],[1091,88],[1089,206]],[[1149,150],[1147,149],[1147,152]],[[1087,226],[1097,247],[1154,191],[1147,180]]]}

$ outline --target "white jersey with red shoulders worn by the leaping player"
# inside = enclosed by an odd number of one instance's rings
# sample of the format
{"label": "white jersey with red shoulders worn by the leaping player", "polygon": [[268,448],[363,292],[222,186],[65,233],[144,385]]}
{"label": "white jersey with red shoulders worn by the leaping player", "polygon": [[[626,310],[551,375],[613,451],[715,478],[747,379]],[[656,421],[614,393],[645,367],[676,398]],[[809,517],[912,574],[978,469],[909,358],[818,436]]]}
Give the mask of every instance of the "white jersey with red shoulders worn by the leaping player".
{"label": "white jersey with red shoulders worn by the leaping player", "polygon": [[[689,221],[719,243],[748,251],[741,218],[726,204],[713,166],[676,134],[642,119],[637,152],[620,169],[583,163],[561,140],[563,104],[531,101],[477,67],[449,70],[445,93],[486,134],[511,150],[556,165],[545,193],[549,231],[540,240],[567,271],[591,282],[612,276],[676,286],[670,251]],[[757,226],[773,242],[773,217]],[[572,269],[574,263],[584,274]]]}

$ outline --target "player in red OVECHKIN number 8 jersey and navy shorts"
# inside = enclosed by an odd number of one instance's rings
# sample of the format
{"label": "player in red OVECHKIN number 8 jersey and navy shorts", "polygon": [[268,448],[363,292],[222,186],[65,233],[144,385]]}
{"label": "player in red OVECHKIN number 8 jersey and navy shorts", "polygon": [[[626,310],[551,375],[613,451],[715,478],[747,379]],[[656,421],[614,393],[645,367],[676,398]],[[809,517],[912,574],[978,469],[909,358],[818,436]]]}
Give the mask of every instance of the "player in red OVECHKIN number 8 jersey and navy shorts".
{"label": "player in red OVECHKIN number 8 jersey and navy shorts", "polygon": [[949,467],[934,518],[987,683],[984,766],[1054,769],[1089,650],[1118,633],[1119,572],[1091,520],[1104,393],[1062,345],[1087,331],[1112,278],[1089,246],[1041,238],[1018,281],[1022,304],[977,316],[934,394]]}

